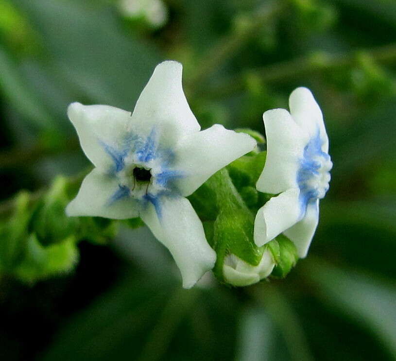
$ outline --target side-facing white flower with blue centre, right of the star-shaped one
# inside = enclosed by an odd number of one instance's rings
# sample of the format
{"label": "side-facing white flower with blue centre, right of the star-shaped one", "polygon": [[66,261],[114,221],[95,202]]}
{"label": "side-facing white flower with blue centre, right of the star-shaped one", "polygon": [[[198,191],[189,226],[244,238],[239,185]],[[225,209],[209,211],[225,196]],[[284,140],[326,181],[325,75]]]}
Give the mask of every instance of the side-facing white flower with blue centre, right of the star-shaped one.
{"label": "side-facing white flower with blue centre, right of the star-shaped one", "polygon": [[256,215],[254,238],[258,246],[284,233],[299,257],[307,255],[319,220],[319,199],[328,190],[332,162],[322,112],[309,89],[295,89],[290,113],[264,113],[267,158],[257,181],[261,192],[278,194]]}

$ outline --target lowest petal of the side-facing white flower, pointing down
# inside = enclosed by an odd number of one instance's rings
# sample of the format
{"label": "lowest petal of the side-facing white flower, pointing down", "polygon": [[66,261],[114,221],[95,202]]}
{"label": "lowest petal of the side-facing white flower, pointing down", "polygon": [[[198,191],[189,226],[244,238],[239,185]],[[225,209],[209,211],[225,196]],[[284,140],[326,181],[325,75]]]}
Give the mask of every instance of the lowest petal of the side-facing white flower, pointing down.
{"label": "lowest petal of the side-facing white flower, pointing down", "polygon": [[318,222],[319,200],[308,204],[304,218],[283,232],[296,246],[300,258],[307,256]]}

